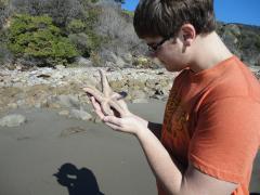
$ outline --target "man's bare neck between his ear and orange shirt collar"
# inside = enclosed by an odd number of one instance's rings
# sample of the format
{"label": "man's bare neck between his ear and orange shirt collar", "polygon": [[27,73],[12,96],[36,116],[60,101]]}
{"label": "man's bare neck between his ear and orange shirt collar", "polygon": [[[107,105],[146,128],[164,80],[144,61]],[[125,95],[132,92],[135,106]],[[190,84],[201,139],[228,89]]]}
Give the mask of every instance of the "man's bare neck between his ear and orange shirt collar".
{"label": "man's bare neck between his ear and orange shirt collar", "polygon": [[233,56],[216,31],[206,36],[197,36],[193,49],[194,57],[190,67],[195,73],[208,69]]}

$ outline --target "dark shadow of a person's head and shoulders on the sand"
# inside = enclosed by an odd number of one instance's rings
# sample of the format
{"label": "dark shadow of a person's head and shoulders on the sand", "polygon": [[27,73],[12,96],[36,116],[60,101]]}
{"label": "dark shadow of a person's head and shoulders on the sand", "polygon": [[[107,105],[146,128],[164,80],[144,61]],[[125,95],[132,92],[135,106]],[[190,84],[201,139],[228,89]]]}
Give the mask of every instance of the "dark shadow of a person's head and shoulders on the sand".
{"label": "dark shadow of a person's head and shoulders on the sand", "polygon": [[64,164],[53,176],[61,185],[67,187],[69,195],[104,195],[93,172],[87,168],[78,169],[73,164]]}

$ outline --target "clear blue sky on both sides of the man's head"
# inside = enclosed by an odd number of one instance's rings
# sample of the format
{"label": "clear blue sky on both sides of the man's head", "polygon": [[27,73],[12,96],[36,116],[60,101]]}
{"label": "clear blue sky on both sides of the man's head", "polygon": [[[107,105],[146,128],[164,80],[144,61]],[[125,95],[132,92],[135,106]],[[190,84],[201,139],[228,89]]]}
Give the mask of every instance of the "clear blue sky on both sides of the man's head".
{"label": "clear blue sky on both sides of the man's head", "polygon": [[[126,0],[122,5],[133,11],[139,0]],[[217,21],[260,26],[260,0],[214,0]]]}

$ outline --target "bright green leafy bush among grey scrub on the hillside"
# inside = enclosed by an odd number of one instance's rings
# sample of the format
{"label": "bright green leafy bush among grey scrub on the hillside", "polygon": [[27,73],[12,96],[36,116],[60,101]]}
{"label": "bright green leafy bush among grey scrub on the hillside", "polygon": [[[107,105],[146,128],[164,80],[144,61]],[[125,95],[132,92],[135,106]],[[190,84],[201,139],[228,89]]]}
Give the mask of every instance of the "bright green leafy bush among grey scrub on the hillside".
{"label": "bright green leafy bush among grey scrub on the hillside", "polygon": [[66,63],[78,55],[47,15],[16,15],[11,22],[9,48],[18,57],[49,58],[53,63]]}

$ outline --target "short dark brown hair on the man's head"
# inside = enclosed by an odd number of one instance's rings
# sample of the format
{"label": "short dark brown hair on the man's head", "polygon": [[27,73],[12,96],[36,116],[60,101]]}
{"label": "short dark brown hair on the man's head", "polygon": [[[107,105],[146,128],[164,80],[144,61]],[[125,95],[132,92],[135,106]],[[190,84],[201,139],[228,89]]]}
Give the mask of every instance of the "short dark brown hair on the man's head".
{"label": "short dark brown hair on the man's head", "polygon": [[140,38],[174,37],[183,24],[197,34],[216,29],[213,0],[140,0],[133,26]]}

